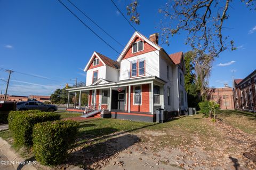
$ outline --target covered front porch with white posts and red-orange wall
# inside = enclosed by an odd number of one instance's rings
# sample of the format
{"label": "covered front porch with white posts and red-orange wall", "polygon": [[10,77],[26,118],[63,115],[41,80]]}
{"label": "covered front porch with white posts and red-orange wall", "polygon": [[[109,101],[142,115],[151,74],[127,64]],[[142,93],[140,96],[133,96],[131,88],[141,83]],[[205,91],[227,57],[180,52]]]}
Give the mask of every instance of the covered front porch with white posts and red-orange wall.
{"label": "covered front porch with white posts and red-orange wall", "polygon": [[[164,108],[164,84],[157,77],[144,77],[69,88],[68,94],[78,92],[79,100],[77,108],[68,103],[67,111],[101,110],[102,117],[154,122],[155,109]],[[86,106],[81,106],[82,93],[88,94]]]}

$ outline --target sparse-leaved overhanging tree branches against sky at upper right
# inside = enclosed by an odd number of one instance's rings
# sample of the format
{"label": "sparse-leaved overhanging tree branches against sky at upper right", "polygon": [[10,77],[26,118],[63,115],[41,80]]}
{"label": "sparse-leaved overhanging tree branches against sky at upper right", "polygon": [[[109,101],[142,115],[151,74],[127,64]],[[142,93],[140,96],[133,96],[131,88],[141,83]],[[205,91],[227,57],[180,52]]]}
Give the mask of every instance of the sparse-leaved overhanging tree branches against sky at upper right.
{"label": "sparse-leaved overhanging tree branches against sky at upper right", "polygon": [[[256,10],[256,0],[241,0],[250,10]],[[202,51],[213,60],[227,48],[235,50],[234,41],[228,35],[223,35],[223,23],[229,18],[228,9],[231,0],[173,0],[167,1],[165,7],[159,9],[164,14],[161,22],[163,43],[169,45],[171,36],[187,34],[186,44],[193,51]],[[127,7],[130,20],[140,23],[137,12],[138,1],[132,1]]]}

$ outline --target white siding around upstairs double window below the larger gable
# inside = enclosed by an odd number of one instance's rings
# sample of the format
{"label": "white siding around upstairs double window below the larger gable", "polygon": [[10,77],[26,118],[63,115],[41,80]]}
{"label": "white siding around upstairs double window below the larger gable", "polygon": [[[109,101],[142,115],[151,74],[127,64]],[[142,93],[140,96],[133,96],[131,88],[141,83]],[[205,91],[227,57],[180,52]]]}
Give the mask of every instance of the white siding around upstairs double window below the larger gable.
{"label": "white siding around upstairs double window below the larger gable", "polygon": [[130,79],[131,62],[134,60],[145,59],[146,76],[159,77],[159,52],[151,51],[149,53],[133,56],[121,61],[120,80]]}

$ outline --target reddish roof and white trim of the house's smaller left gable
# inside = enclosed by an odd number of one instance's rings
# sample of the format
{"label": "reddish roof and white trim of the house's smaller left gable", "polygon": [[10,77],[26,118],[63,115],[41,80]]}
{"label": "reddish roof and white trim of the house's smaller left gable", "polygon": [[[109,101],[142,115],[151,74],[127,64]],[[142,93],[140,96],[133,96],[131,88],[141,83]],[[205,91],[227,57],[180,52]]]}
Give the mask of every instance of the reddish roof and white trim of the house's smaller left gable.
{"label": "reddish roof and white trim of the house's smaller left gable", "polygon": [[100,54],[98,52],[93,52],[89,62],[86,64],[84,71],[87,71],[90,67],[90,64],[92,63],[92,60],[94,58],[94,56],[97,56],[99,58],[99,60],[105,65],[105,66],[109,66],[109,67],[113,67],[115,69],[119,69],[120,68],[120,64],[117,61],[114,61],[110,58],[108,58],[107,56]]}

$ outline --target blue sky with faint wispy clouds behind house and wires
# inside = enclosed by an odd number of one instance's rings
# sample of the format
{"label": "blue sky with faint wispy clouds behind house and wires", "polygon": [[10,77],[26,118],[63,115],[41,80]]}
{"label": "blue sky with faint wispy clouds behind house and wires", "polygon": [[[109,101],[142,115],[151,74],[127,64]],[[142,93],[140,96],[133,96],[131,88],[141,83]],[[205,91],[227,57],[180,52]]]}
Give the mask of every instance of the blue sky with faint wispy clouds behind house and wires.
{"label": "blue sky with faint wispy clouds behind house and wires", "polygon": [[[63,0],[65,4],[67,1]],[[134,30],[117,12],[111,1],[72,1],[103,27],[118,42],[125,45]],[[126,13],[130,1],[115,1]],[[166,1],[140,1],[138,10],[141,24],[135,26],[145,36],[158,33],[159,7]],[[93,30],[119,52],[122,46],[106,36],[72,8]],[[235,78],[244,78],[256,67],[256,12],[250,11],[240,1],[232,2],[230,18],[225,22],[223,33],[235,41],[236,51],[225,51],[213,63],[210,86],[232,85],[232,70]],[[190,47],[184,44],[186,35],[171,37],[170,46],[162,45],[168,53],[187,52]],[[100,52],[116,60],[118,54],[103,43],[90,30],[82,25],[58,1],[13,1],[0,0],[0,68],[14,72],[11,76],[9,94],[50,95],[65,83],[73,84],[74,78],[85,82],[85,67],[93,51]],[[0,78],[7,73],[0,71]],[[0,92],[5,91],[5,82],[0,80]]]}

